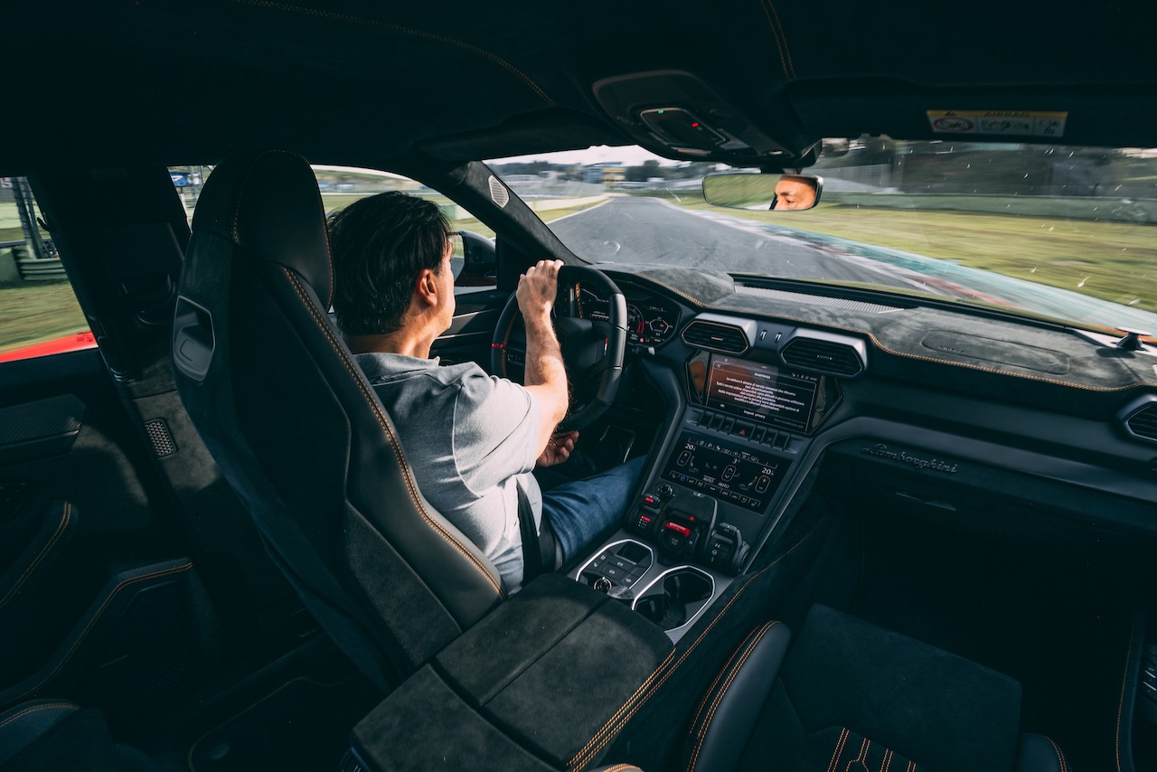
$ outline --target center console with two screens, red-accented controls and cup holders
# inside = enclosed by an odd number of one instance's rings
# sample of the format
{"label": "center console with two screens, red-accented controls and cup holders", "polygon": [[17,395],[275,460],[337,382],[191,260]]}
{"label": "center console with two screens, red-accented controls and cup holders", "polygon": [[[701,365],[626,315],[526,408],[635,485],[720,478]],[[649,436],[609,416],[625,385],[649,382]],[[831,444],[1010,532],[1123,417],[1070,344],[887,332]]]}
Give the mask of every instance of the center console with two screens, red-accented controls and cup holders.
{"label": "center console with two screens, red-accented controls and cup holders", "polygon": [[744,568],[811,433],[839,402],[834,378],[717,353],[686,363],[687,405],[620,537],[574,574],[673,640]]}

